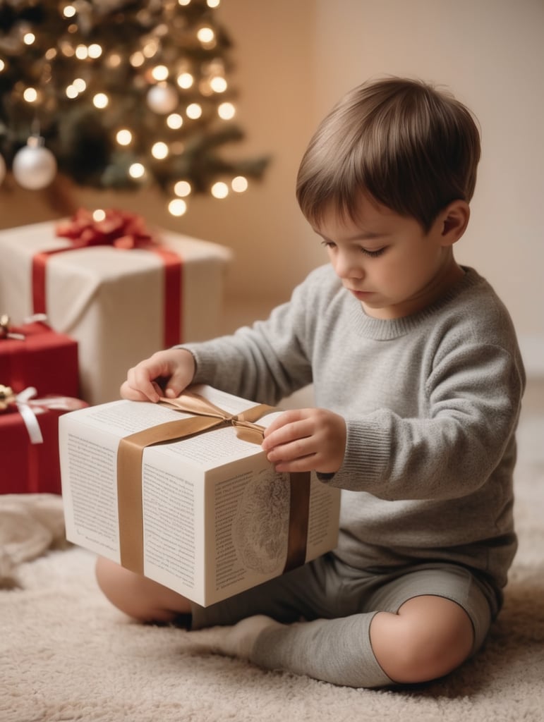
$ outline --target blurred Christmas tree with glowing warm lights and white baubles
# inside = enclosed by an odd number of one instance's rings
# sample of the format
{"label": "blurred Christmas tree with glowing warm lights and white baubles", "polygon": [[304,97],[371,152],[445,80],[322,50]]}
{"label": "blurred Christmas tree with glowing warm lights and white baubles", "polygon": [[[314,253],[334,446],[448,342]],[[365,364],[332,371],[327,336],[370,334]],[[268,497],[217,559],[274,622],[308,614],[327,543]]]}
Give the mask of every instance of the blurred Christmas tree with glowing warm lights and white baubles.
{"label": "blurred Christmas tree with glowing warm lights and white baubles", "polygon": [[224,197],[260,178],[266,158],[220,153],[243,132],[219,4],[0,0],[0,181],[7,167],[25,188],[56,173],[155,185],[181,215],[191,193]]}

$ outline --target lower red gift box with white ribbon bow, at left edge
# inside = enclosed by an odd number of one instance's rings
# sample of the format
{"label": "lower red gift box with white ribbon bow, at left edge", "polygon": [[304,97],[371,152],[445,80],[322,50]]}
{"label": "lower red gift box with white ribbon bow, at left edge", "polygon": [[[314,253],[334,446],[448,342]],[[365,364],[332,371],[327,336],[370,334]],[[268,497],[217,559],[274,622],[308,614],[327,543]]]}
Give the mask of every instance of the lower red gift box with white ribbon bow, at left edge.
{"label": "lower red gift box with white ribbon bow, at left edge", "polygon": [[0,494],[60,494],[59,417],[87,404],[50,396],[26,406],[35,416],[42,441],[33,443],[16,404],[0,412]]}

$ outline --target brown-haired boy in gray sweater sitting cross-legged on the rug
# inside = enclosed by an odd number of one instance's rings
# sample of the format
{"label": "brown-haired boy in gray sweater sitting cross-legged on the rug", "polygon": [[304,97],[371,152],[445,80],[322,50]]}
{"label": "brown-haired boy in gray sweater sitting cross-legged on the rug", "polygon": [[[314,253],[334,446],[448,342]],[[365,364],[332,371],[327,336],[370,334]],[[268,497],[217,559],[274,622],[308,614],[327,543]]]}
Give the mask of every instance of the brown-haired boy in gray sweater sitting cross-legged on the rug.
{"label": "brown-haired boy in gray sweater sitting cross-legged on the rug", "polygon": [[338,547],[207,609],[99,560],[113,604],[225,625],[220,653],[353,687],[435,679],[478,651],[516,551],[524,390],[508,313],[454,260],[479,157],[470,112],[423,82],[363,84],[333,108],[297,183],[330,264],[267,321],[140,362],[121,393],[194,381],[276,404],[313,383],[317,408],[281,414],[263,448],[342,489]]}

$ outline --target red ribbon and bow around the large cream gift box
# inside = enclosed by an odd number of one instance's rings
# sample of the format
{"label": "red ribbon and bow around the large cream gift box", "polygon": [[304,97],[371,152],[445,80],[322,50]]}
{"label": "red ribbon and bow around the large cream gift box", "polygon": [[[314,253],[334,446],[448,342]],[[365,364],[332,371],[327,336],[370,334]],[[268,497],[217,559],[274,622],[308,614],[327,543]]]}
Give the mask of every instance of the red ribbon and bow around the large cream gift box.
{"label": "red ribbon and bow around the large cream gift box", "polygon": [[46,265],[53,253],[76,251],[93,245],[111,245],[121,251],[140,248],[157,253],[164,264],[164,345],[170,347],[181,342],[181,258],[152,237],[141,216],[108,209],[103,220],[95,220],[90,211],[80,208],[71,219],[57,225],[56,235],[69,238],[72,246],[40,251],[33,257],[34,313],[46,313]]}

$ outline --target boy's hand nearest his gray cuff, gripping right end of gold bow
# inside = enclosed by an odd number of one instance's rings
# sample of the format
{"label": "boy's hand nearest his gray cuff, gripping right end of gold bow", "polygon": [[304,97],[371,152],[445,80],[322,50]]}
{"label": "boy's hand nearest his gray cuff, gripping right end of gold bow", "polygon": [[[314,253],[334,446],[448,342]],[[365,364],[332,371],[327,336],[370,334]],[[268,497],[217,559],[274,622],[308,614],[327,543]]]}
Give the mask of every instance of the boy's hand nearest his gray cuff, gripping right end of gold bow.
{"label": "boy's hand nearest his gray cuff, gripping right end of gold bow", "polygon": [[344,461],[346,425],[327,409],[286,411],[264,431],[262,448],[276,471],[333,474]]}

